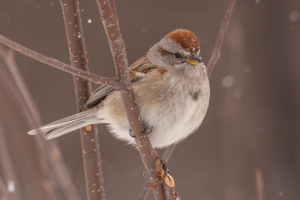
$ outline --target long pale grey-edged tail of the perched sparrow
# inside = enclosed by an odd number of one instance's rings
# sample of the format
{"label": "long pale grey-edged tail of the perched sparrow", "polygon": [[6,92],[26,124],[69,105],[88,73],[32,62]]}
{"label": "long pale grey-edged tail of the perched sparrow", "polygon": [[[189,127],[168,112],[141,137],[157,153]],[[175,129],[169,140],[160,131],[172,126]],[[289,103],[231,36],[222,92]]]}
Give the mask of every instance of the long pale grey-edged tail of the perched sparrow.
{"label": "long pale grey-edged tail of the perched sparrow", "polygon": [[100,122],[95,114],[97,109],[90,109],[84,112],[77,113],[75,115],[63,118],[61,120],[46,124],[37,129],[28,132],[30,135],[43,133],[46,139],[52,139],[69,133],[73,130],[85,127],[89,124],[97,124]]}

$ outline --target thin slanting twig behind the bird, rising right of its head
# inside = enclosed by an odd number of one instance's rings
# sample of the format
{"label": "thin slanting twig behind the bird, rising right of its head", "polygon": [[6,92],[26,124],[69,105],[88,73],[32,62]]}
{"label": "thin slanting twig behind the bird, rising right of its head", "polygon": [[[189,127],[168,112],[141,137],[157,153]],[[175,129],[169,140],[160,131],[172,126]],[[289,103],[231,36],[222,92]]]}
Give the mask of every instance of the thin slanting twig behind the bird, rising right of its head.
{"label": "thin slanting twig behind the bird, rising right of its head", "polygon": [[[220,54],[220,49],[226,34],[226,30],[229,24],[229,19],[230,16],[232,15],[232,11],[233,11],[233,7],[235,5],[235,1],[236,0],[229,0],[228,5],[227,5],[227,10],[226,10],[226,14],[223,18],[222,24],[221,24],[221,28],[219,31],[219,34],[217,36],[217,40],[216,43],[214,45],[214,49],[211,53],[211,57],[209,58],[208,64],[207,64],[207,70],[208,70],[208,78],[211,76],[211,73],[214,69],[215,64],[217,64],[218,59],[220,58],[221,54]],[[176,144],[169,146],[164,155],[168,158],[170,158],[171,154],[173,153],[174,149],[176,148]],[[167,160],[165,160],[167,162]],[[148,182],[146,183],[148,184]],[[142,189],[142,192],[140,193],[140,196],[138,198],[138,200],[145,200],[149,191],[150,191],[151,187],[148,186],[144,186]]]}

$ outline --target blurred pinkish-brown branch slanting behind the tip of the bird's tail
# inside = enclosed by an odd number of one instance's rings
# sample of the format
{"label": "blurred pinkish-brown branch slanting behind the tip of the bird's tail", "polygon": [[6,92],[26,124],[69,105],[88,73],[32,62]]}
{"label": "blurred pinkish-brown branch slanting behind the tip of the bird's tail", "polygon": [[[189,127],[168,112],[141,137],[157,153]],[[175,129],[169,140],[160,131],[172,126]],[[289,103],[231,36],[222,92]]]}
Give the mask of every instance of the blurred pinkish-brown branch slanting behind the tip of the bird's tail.
{"label": "blurred pinkish-brown branch slanting behind the tip of the bird's tail", "polygon": [[[10,74],[13,78],[13,80],[9,79],[10,76],[8,72],[4,71],[3,67],[1,67],[0,77],[5,83],[6,90],[11,95],[11,99],[16,101],[15,105],[19,107],[18,110],[22,113],[24,119],[31,128],[41,126],[41,121],[38,117],[38,109],[33,103],[29,90],[19,73],[12,52],[6,53],[3,48],[0,48],[0,57],[7,65],[7,68],[10,70]],[[66,198],[68,200],[80,200],[77,190],[71,181],[67,167],[62,160],[57,141],[46,141],[41,134],[35,136],[35,139],[43,154],[46,155],[49,164],[52,166],[55,177],[57,178]],[[49,186],[47,186],[47,188],[49,189]]]}

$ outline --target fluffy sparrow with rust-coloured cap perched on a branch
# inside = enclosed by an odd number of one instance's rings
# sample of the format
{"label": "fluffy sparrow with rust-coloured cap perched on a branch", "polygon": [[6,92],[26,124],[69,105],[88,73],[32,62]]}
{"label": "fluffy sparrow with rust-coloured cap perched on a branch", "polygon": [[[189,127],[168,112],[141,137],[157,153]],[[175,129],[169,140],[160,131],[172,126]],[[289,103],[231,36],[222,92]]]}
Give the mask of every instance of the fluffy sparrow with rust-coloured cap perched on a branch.
{"label": "fluffy sparrow with rust-coloured cap perched on a branch", "polygon": [[[199,42],[189,30],[176,29],[129,67],[139,120],[153,148],[178,143],[198,129],[208,109],[207,70],[199,57]],[[106,123],[116,138],[135,145],[116,88],[101,85],[85,111],[31,130],[56,138],[89,124]],[[39,130],[39,131],[38,131]]]}

